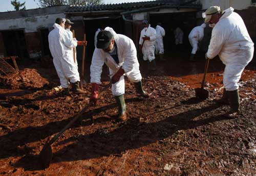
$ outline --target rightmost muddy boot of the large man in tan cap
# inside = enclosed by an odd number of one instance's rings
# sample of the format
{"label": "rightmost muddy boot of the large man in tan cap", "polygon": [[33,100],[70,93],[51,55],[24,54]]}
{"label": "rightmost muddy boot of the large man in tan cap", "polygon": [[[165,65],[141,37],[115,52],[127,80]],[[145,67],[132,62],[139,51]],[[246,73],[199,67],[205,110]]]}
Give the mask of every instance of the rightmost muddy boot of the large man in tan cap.
{"label": "rightmost muddy boot of the large man in tan cap", "polygon": [[236,117],[240,113],[240,100],[239,100],[239,91],[232,90],[227,91],[230,111],[227,113],[229,117]]}

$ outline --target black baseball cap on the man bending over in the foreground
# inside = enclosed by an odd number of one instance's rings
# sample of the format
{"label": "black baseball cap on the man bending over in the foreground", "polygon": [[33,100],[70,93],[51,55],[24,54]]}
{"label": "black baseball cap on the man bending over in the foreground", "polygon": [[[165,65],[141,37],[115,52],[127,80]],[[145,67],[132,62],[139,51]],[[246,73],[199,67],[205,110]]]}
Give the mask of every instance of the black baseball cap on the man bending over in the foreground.
{"label": "black baseball cap on the man bending over in the foreground", "polygon": [[97,35],[96,47],[100,49],[105,49],[109,47],[113,34],[110,31],[100,31]]}

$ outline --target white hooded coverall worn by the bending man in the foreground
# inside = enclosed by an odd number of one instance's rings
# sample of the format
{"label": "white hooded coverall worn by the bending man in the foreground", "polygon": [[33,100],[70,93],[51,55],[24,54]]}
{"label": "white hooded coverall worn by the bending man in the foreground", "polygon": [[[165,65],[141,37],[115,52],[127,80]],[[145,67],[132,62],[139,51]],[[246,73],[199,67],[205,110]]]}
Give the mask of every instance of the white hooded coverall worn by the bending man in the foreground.
{"label": "white hooded coverall worn by the bending man in the foreground", "polygon": [[[102,72],[102,65],[105,63],[110,70],[110,76],[118,71],[122,66],[125,76],[134,83],[140,82],[142,77],[139,70],[139,62],[137,59],[137,51],[132,39],[106,27],[104,30],[110,31],[114,35],[114,40],[117,46],[117,55],[119,64],[113,59],[113,57],[103,51],[103,49],[95,48],[91,64],[91,83],[100,84],[100,76]],[[124,94],[124,76],[120,77],[120,80],[115,84],[112,84],[112,93],[114,96]]]}

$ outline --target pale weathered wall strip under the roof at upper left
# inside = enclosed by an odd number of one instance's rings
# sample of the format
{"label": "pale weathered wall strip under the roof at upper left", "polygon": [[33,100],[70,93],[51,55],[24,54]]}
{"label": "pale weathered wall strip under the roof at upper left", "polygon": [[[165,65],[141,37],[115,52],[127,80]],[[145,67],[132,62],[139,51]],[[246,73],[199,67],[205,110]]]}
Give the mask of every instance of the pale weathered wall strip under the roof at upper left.
{"label": "pale weathered wall strip under the roof at upper left", "polygon": [[25,29],[25,33],[37,32],[39,28],[51,28],[57,17],[65,18],[65,14],[40,15],[26,18],[0,20],[1,30]]}

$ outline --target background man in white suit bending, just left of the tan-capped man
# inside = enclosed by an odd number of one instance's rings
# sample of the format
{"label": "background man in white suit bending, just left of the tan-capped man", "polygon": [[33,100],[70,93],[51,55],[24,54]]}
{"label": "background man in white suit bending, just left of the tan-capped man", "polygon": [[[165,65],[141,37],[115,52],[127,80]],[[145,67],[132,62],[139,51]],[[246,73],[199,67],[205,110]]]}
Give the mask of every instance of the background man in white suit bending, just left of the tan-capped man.
{"label": "background man in white suit bending, just left of the tan-capped man", "polygon": [[191,55],[189,58],[189,61],[195,61],[195,55],[199,49],[199,42],[202,41],[204,37],[204,28],[206,27],[206,24],[203,23],[201,26],[193,28],[191,32],[188,35],[188,40],[190,45],[192,46]]}

